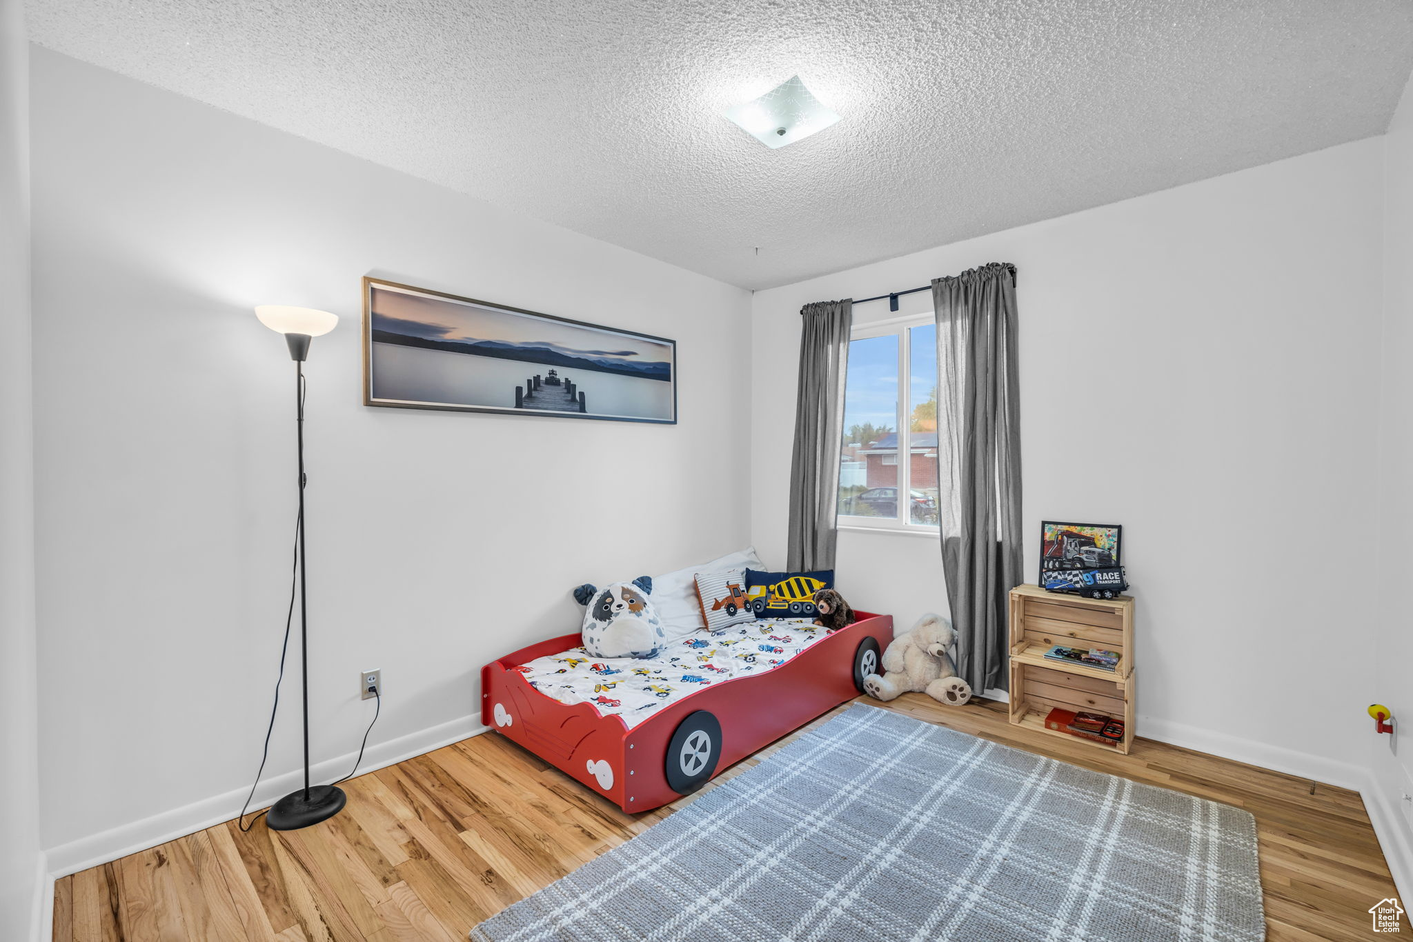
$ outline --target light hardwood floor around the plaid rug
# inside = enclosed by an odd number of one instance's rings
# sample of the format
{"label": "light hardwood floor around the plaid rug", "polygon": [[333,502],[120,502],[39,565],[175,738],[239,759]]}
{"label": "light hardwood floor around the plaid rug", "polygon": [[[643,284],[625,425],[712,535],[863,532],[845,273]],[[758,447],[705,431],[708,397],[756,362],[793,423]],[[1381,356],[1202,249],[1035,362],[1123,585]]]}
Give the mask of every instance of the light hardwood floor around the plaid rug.
{"label": "light hardwood floor around the plaid rug", "polygon": [[[1251,811],[1272,942],[1368,939],[1366,910],[1396,895],[1356,792],[1146,739],[1129,756],[1099,751],[1010,726],[1003,703],[947,708],[909,693],[886,706]],[[345,788],[348,808],[307,830],[218,825],[61,878],[55,941],[461,942],[476,922],[691,801],[630,818],[495,733]]]}

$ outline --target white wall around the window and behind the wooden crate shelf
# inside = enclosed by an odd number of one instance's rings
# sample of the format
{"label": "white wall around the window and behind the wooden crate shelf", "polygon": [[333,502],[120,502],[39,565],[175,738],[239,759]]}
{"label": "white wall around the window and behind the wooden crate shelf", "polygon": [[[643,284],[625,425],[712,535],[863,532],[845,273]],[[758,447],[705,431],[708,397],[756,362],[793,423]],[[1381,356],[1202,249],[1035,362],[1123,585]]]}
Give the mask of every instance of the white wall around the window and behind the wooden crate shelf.
{"label": "white wall around the window and behind the wooden crate shelf", "polygon": [[[808,301],[1016,263],[1027,572],[1040,520],[1123,524],[1139,734],[1359,785],[1382,147],[1356,141],[760,291],[753,347],[796,350]],[[856,319],[887,316],[875,302]],[[793,421],[793,360],[757,370],[752,393],[753,539],[771,556],[784,548],[790,438],[767,432]],[[1075,370],[1091,380],[1068,394]],[[1096,400],[1095,384],[1112,395]],[[903,627],[945,606],[931,541],[842,532],[838,566],[851,602]]]}

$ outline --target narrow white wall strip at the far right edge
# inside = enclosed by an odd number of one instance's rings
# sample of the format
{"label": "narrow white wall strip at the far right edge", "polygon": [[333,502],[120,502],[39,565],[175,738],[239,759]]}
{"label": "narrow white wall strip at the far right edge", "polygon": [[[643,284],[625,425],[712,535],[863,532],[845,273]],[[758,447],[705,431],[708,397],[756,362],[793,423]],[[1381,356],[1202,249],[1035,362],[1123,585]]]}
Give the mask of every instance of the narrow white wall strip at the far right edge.
{"label": "narrow white wall strip at the far right edge", "polygon": [[[1365,801],[1405,898],[1413,895],[1413,617],[1399,590],[1409,583],[1413,531],[1413,81],[1383,138],[1383,388],[1379,398],[1379,578],[1372,678],[1365,699],[1399,720],[1371,743],[1372,789]],[[1368,720],[1366,720],[1368,723]],[[1369,723],[1372,726],[1372,723]]]}

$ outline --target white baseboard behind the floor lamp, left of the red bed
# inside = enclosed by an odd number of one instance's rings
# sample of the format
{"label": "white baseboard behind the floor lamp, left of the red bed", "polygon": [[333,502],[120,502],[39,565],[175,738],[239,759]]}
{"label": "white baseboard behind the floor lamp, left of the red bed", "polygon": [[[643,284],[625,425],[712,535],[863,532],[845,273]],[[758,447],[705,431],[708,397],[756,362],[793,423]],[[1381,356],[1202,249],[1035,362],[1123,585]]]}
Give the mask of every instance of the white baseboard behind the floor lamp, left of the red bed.
{"label": "white baseboard behind the floor lamp, left of the red bed", "polygon": [[[386,743],[376,743],[369,746],[367,751],[363,753],[359,775],[394,765],[403,760],[430,753],[451,743],[458,743],[478,733],[485,733],[486,729],[489,727],[480,725],[479,715],[463,716]],[[357,753],[350,751],[346,756],[336,756],[318,763],[311,768],[311,775],[318,780],[338,778],[338,775],[348,773],[356,756]],[[281,795],[298,788],[302,781],[302,770],[291,770],[283,775],[261,781],[250,802],[250,808],[260,809],[268,806]],[[240,813],[240,805],[244,804],[247,791],[249,787],[227,791],[223,795],[202,798],[174,811],[164,811],[151,818],[143,818],[141,821],[52,847],[47,852],[48,876],[52,880],[52,877],[64,877],[79,870],[88,870],[100,863],[109,863],[130,853],[147,850],[168,840],[175,840],[177,837],[184,837],[230,821]]]}

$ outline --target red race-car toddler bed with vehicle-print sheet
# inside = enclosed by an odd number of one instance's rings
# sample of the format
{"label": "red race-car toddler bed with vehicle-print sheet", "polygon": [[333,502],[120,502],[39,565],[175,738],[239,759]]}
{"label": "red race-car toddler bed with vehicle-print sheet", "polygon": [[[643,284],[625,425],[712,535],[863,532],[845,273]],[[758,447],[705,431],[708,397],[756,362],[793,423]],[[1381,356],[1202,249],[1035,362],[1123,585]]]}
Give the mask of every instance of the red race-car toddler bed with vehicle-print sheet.
{"label": "red race-car toddler bed with vehicle-print sheet", "polygon": [[[702,640],[708,647],[732,643],[714,640],[719,636],[698,633],[674,643],[680,647],[673,647],[666,671],[657,667],[666,660],[586,664],[582,655],[571,657],[581,643],[578,634],[550,638],[482,668],[482,722],[623,811],[651,811],[858,696],[893,640],[893,616],[859,612],[858,619],[832,634],[818,628],[820,636],[787,660],[781,658],[791,648],[781,643],[790,637],[783,634],[791,631],[790,623],[762,623],[760,634],[774,640],[742,643],[731,654],[749,661],[755,672],[726,679],[721,678],[722,661],[714,664],[701,650]],[[561,702],[527,676],[543,669],[527,665],[545,658],[564,662],[555,674],[591,669],[598,682],[581,702]],[[622,709],[617,688],[627,689],[627,684],[637,684],[651,703],[646,719],[634,723],[593,705]]]}

